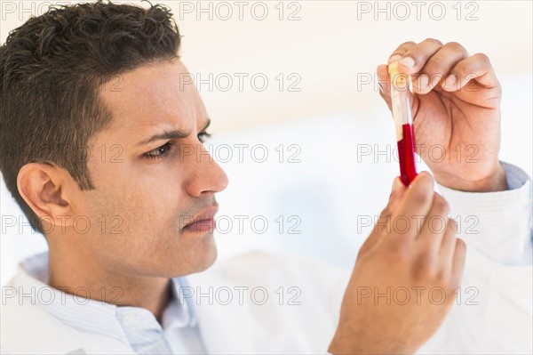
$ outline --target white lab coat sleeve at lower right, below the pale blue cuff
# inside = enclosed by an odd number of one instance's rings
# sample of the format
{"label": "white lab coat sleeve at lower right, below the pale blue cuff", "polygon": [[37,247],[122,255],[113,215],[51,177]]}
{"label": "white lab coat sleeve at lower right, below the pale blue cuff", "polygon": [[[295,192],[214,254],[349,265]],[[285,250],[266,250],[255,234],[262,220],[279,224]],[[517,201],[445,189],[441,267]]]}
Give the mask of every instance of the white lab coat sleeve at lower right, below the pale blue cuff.
{"label": "white lab coat sleeve at lower right, below the pale blue cuff", "polygon": [[469,247],[460,298],[418,353],[532,354],[531,265],[502,265]]}

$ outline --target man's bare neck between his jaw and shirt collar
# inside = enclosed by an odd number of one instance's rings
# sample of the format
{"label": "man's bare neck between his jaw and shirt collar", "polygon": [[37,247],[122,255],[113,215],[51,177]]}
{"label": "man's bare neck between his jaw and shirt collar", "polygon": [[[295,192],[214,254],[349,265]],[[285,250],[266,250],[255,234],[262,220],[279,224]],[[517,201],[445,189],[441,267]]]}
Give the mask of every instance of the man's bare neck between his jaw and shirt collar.
{"label": "man's bare neck between his jaw and shirt collar", "polygon": [[171,279],[117,273],[106,270],[92,258],[79,254],[49,252],[48,284],[68,294],[151,311],[161,323],[171,301]]}

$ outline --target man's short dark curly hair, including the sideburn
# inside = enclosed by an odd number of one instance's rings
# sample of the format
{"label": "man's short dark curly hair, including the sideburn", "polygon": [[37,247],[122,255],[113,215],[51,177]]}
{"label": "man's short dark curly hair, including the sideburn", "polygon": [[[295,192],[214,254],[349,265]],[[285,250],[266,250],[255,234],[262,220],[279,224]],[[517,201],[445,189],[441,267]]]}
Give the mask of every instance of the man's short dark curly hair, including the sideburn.
{"label": "man's short dark curly hair, including the sideburn", "polygon": [[0,170],[34,229],[43,232],[17,188],[20,168],[60,166],[81,190],[94,189],[87,144],[112,120],[99,89],[126,71],[179,57],[179,44],[172,13],[159,4],[52,6],[12,30],[0,47]]}

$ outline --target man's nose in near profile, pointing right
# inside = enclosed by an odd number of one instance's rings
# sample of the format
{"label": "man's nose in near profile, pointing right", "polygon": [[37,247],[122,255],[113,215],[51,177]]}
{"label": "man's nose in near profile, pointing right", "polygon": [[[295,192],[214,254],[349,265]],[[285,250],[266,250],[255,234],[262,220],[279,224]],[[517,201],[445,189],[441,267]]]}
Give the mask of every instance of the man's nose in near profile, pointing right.
{"label": "man's nose in near profile, pointing right", "polygon": [[213,159],[203,144],[196,145],[194,155],[187,157],[189,179],[186,182],[187,193],[195,198],[205,193],[216,193],[227,188],[227,174]]}

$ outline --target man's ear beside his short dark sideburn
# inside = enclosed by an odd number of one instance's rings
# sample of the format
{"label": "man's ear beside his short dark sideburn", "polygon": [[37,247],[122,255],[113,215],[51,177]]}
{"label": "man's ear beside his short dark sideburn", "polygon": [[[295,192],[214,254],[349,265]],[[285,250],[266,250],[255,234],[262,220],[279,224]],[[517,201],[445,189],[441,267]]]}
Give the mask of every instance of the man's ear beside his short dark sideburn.
{"label": "man's ear beside his short dark sideburn", "polygon": [[[42,221],[62,227],[72,224],[72,208],[64,196],[65,173],[57,166],[30,163],[20,168],[20,196]],[[70,217],[70,218],[67,218]]]}

